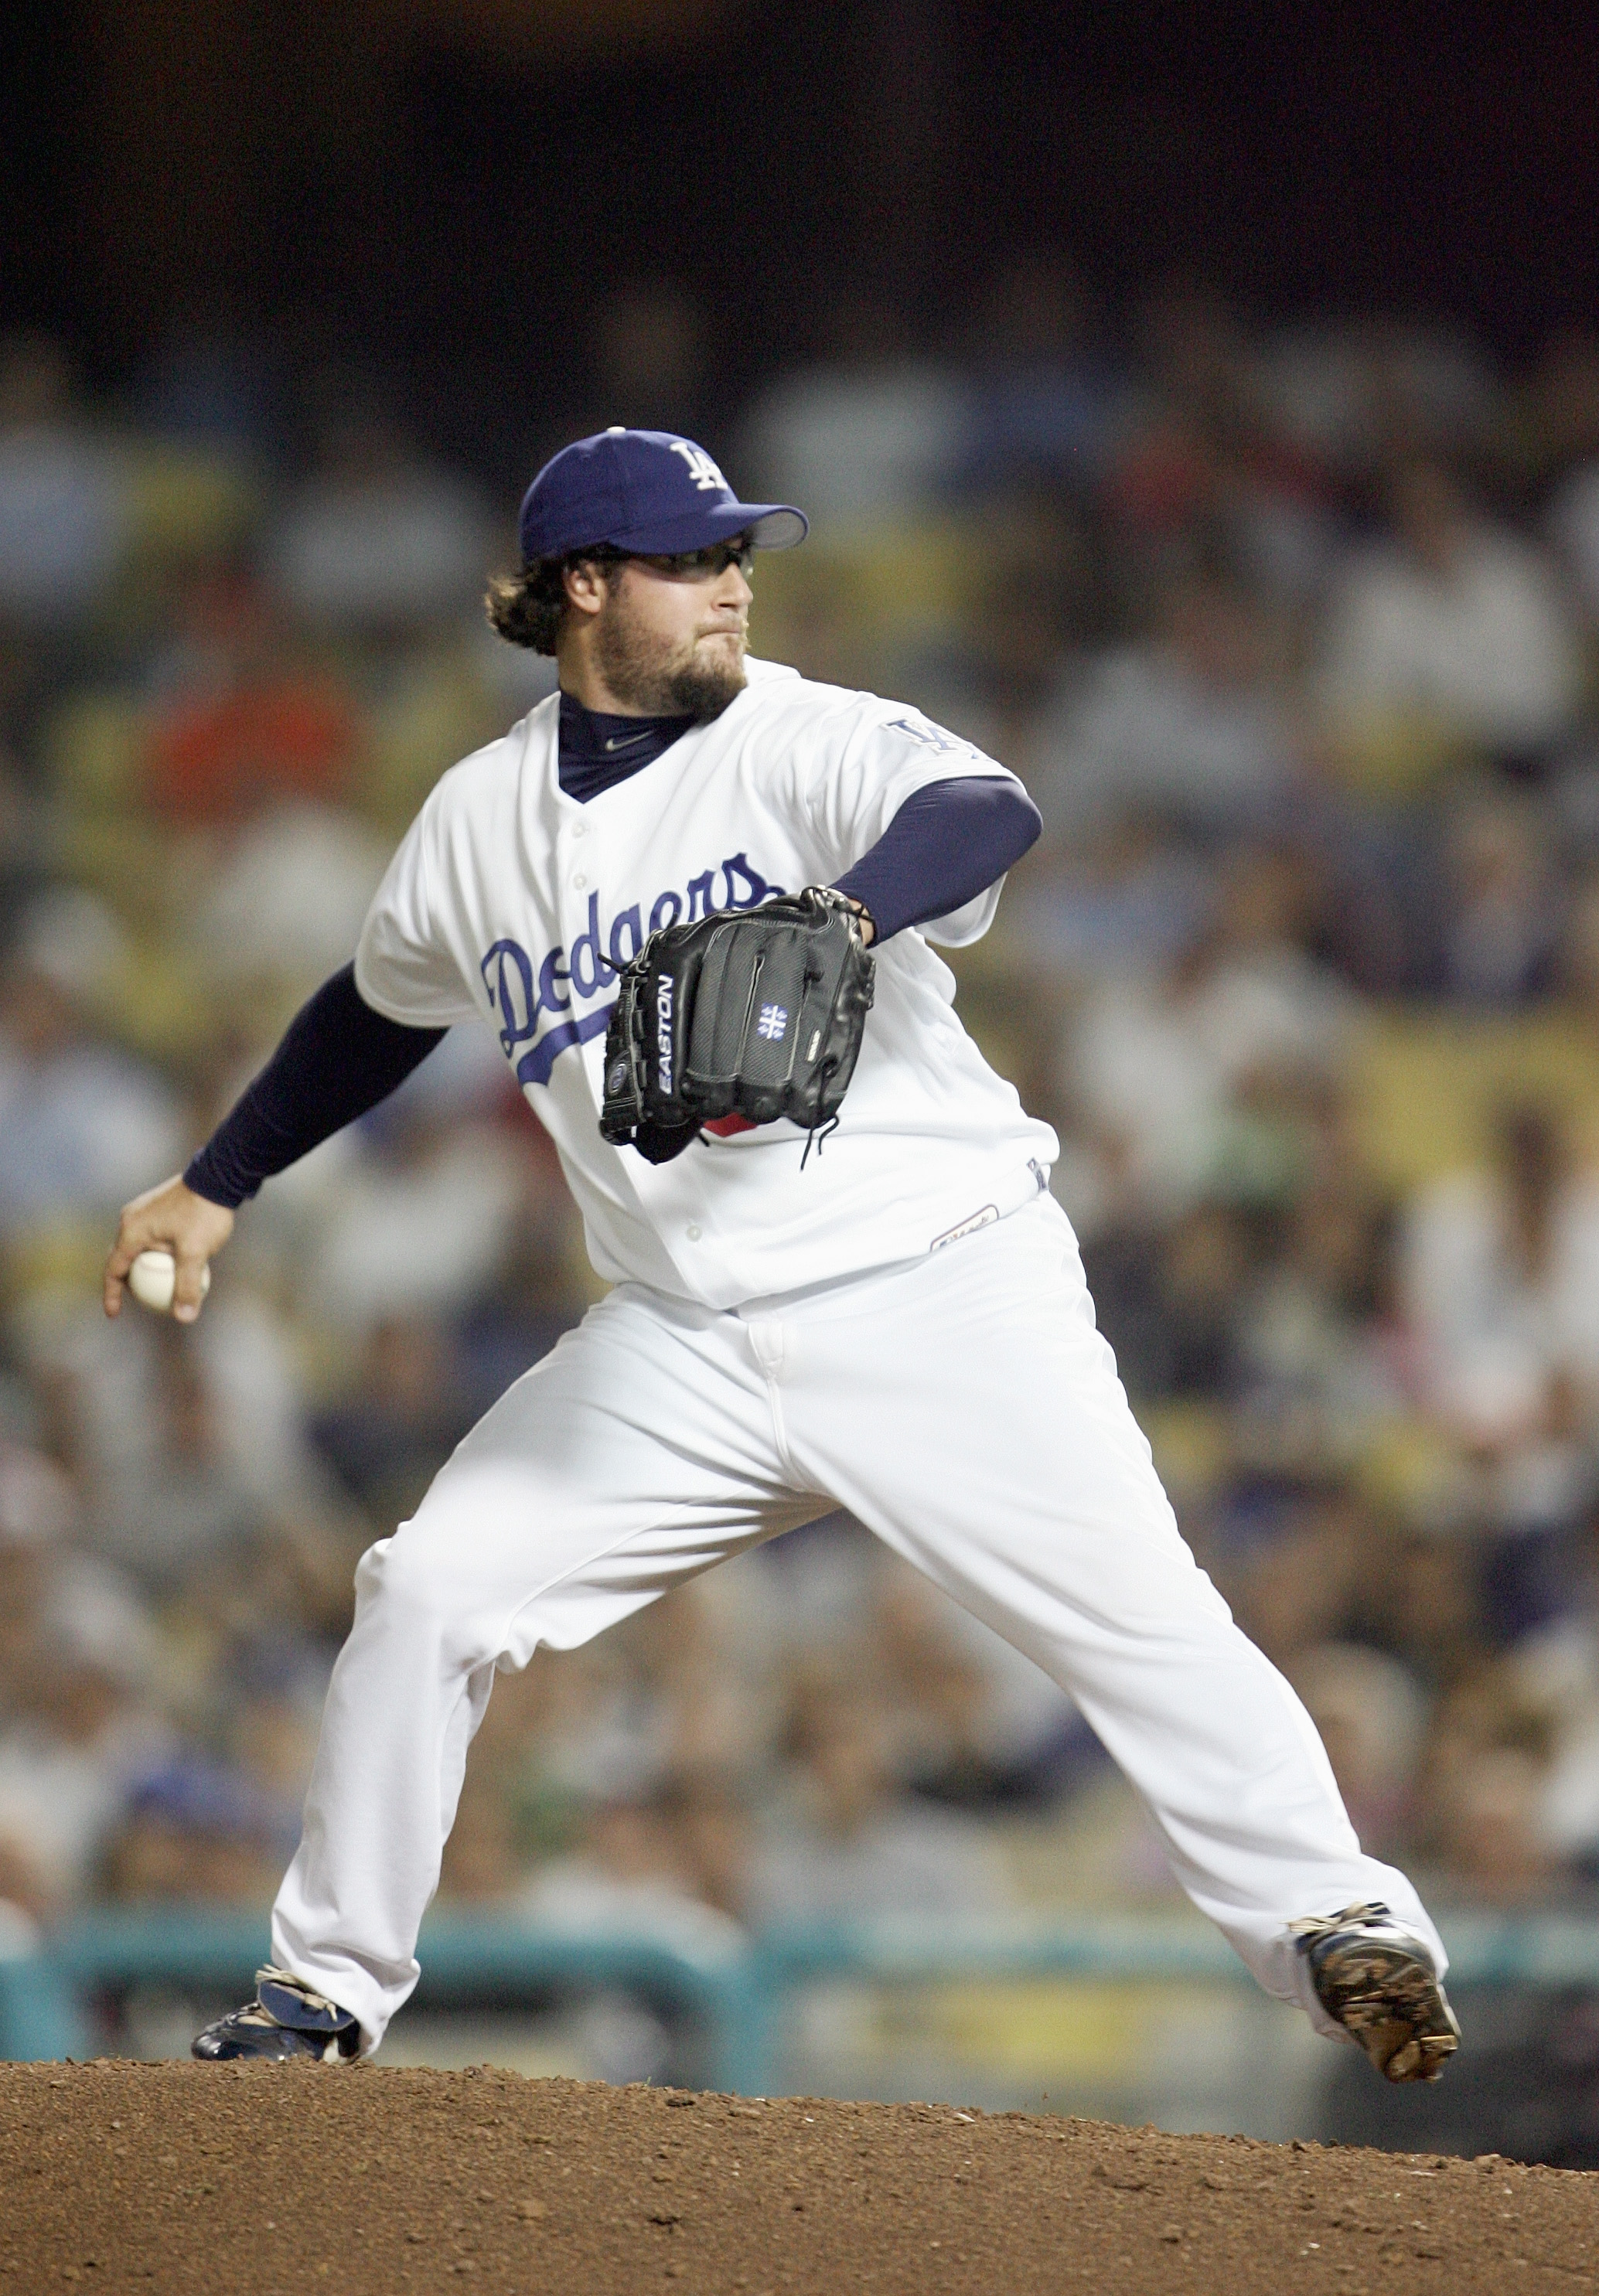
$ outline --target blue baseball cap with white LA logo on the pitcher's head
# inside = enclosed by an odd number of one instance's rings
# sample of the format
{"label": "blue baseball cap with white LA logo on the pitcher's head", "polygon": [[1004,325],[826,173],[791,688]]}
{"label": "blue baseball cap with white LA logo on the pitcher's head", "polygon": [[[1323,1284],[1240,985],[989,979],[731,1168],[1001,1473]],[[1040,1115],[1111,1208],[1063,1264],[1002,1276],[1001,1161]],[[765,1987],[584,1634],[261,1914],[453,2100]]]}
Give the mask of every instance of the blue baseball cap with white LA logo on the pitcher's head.
{"label": "blue baseball cap with white LA logo on the pitcher's head", "polygon": [[804,542],[788,503],[740,503],[703,445],[613,425],[563,445],[522,498],[522,558],[565,558],[607,542],[639,558],[703,551],[749,533],[758,551]]}

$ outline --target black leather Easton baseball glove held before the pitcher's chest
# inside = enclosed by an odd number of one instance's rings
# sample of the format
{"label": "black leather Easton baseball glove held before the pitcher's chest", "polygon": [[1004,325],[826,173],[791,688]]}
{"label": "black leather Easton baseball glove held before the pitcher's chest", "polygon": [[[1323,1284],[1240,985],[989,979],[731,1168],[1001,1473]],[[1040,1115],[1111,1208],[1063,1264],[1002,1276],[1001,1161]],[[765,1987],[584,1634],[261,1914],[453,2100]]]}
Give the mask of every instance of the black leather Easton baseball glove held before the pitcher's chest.
{"label": "black leather Easton baseball glove held before the pitcher's chest", "polygon": [[666,1164],[719,1116],[832,1130],[871,971],[855,909],[829,886],[664,925],[620,976],[600,1132]]}

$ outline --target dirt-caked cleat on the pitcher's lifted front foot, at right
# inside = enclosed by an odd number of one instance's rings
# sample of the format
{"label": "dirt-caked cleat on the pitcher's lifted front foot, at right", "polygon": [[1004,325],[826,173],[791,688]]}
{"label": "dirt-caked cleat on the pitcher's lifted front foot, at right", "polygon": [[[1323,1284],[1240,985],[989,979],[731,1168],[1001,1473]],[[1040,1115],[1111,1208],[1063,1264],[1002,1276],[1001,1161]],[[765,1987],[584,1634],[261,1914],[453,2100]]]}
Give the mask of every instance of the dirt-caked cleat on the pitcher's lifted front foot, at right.
{"label": "dirt-caked cleat on the pitcher's lifted front foot, at right", "polygon": [[1436,2080],[1461,2027],[1431,1954],[1388,1906],[1344,1906],[1326,1919],[1291,1922],[1316,2000],[1367,2053],[1385,2080]]}

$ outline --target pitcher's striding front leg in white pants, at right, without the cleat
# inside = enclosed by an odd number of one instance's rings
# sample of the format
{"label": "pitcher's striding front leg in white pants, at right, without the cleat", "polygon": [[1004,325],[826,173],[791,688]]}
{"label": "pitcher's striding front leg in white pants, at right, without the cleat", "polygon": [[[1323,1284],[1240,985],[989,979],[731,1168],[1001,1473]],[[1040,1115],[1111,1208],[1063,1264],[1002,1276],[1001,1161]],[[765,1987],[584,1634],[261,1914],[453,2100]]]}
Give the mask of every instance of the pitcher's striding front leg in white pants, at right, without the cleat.
{"label": "pitcher's striding front leg in white pants, at right, without the cleat", "polygon": [[1268,1993],[1337,2030],[1291,1924],[1365,1903],[1443,1972],[1415,1890],[1360,1851],[1310,1715],[1183,1543],[1055,1203],[783,1304],[765,1352],[800,1472],[1071,1690]]}

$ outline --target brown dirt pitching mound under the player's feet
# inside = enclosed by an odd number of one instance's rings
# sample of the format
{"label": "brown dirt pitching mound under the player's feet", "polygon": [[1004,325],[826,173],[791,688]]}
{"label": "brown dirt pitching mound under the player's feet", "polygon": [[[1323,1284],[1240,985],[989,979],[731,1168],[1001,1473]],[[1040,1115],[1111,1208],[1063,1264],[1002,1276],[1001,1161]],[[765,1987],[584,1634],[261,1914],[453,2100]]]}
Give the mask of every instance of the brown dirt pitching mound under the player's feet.
{"label": "brown dirt pitching mound under the player's feet", "polygon": [[949,2105],[0,2066],[0,2289],[1032,2296],[1599,2280],[1599,2177]]}

